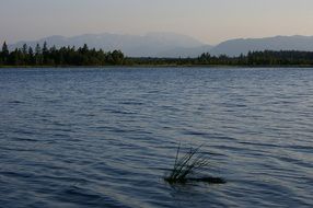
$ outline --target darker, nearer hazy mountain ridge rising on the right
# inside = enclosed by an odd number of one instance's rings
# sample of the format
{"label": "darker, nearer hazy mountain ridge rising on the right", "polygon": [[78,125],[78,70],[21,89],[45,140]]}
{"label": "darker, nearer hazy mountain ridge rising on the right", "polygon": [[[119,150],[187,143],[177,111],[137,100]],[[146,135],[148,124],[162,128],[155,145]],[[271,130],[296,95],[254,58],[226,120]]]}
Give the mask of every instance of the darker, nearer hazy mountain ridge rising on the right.
{"label": "darker, nearer hazy mountain ridge rising on the right", "polygon": [[240,56],[253,50],[313,51],[313,36],[276,36],[266,38],[231,39],[212,48],[212,55]]}

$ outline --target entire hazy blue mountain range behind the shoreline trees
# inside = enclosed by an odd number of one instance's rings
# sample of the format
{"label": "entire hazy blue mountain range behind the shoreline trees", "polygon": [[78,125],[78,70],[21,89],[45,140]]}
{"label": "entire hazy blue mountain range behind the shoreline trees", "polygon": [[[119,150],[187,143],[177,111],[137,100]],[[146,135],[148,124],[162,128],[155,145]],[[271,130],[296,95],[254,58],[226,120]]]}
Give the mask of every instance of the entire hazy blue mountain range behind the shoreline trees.
{"label": "entire hazy blue mountain range behind the shoreline trees", "polygon": [[313,36],[275,36],[265,38],[237,38],[216,46],[205,44],[194,37],[175,33],[148,33],[146,35],[85,34],[72,37],[49,36],[33,42],[19,42],[9,45],[10,49],[23,44],[35,47],[47,42],[49,46],[76,46],[88,44],[90,48],[105,51],[120,49],[129,57],[197,57],[202,53],[211,55],[240,56],[255,50],[305,50],[313,51]]}

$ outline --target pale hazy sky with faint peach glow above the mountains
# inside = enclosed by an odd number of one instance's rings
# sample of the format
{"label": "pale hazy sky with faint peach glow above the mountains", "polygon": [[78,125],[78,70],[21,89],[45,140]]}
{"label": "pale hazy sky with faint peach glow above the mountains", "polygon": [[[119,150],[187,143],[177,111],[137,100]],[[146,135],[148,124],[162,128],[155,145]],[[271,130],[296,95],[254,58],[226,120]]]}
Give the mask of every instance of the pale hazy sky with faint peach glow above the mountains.
{"label": "pale hazy sky with faint peach glow above the mountains", "polygon": [[313,35],[313,0],[0,0],[0,42],[174,32],[206,44]]}

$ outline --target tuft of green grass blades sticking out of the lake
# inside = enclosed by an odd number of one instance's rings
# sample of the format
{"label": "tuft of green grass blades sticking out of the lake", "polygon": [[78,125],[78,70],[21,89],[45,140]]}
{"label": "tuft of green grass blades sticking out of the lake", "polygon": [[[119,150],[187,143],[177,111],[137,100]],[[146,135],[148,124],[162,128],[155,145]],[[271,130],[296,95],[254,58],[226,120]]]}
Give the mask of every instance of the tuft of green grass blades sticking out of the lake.
{"label": "tuft of green grass blades sticking out of the lake", "polygon": [[169,184],[185,184],[187,182],[205,182],[211,184],[224,184],[225,181],[221,177],[195,177],[202,167],[208,166],[209,161],[205,158],[204,153],[200,153],[199,150],[202,146],[198,148],[190,148],[187,153],[183,157],[179,155],[181,145],[177,148],[175,163],[167,176],[164,177],[164,181]]}

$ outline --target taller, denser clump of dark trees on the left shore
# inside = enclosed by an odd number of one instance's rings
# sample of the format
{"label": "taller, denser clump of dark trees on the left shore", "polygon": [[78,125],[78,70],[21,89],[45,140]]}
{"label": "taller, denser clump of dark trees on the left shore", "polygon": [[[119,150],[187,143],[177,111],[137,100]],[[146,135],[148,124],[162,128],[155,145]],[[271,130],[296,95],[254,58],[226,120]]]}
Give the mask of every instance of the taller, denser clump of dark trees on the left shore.
{"label": "taller, denser clump of dark trees on the left shore", "polygon": [[123,65],[124,54],[120,50],[105,53],[102,49],[83,47],[48,47],[47,43],[35,48],[26,44],[22,48],[9,51],[4,42],[0,51],[0,66],[106,66]]}

